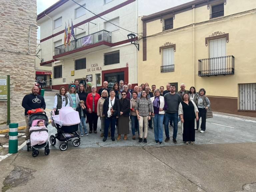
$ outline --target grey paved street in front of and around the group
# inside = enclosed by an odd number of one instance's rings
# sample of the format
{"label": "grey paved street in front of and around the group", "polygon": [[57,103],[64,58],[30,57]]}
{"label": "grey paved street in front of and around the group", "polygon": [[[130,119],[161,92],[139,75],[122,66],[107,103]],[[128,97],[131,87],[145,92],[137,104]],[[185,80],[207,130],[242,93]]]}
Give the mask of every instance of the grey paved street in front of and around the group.
{"label": "grey paved street in front of and around the group", "polygon": [[[52,92],[45,95],[48,109],[53,97]],[[70,143],[66,151],[60,151],[57,141],[48,156],[40,150],[34,158],[25,146],[0,162],[0,188],[12,192],[254,192],[255,123],[215,114],[207,119],[205,133],[196,132],[195,145],[183,144],[179,124],[177,144],[156,144],[153,130],[149,130],[147,144],[138,144],[137,135],[132,140],[131,131],[126,141],[108,138],[103,142],[98,130],[81,137],[79,147]],[[56,133],[51,125],[48,129],[49,135]]]}

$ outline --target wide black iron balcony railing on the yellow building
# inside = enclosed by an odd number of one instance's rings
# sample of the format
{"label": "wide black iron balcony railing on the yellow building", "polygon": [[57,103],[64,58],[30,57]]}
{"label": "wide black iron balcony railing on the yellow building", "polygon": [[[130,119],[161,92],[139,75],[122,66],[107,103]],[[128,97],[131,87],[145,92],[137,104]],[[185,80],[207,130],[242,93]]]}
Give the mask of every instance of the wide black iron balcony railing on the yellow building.
{"label": "wide black iron balcony railing on the yellow building", "polygon": [[234,75],[235,57],[233,55],[198,60],[198,76]]}

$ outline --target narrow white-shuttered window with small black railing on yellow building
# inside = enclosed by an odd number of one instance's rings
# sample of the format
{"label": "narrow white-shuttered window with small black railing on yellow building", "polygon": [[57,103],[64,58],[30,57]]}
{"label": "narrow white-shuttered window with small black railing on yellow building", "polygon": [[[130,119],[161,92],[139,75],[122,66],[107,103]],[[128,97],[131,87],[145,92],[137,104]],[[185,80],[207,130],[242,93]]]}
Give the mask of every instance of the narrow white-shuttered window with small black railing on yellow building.
{"label": "narrow white-shuttered window with small black railing on yellow building", "polygon": [[163,49],[161,73],[174,71],[174,47]]}

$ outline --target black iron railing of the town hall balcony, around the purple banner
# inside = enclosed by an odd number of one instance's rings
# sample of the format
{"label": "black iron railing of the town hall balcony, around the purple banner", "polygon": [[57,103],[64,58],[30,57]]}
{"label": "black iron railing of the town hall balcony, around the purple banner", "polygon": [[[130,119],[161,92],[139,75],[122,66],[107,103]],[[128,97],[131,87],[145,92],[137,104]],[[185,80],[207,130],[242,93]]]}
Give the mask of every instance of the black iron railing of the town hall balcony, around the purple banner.
{"label": "black iron railing of the town hall balcony, around the purple banner", "polygon": [[[83,41],[83,38],[87,37],[88,40],[85,42],[85,40]],[[90,45],[90,44],[94,44],[100,41],[108,41],[111,42],[111,32],[106,31],[106,30],[101,30],[98,31],[96,33],[92,33],[90,35],[81,37],[79,39],[76,39],[74,41],[70,42],[70,45],[66,45],[66,47],[64,45],[60,45],[58,47],[55,47],[55,55],[59,55],[62,53],[65,53],[67,51],[71,51],[86,45]],[[89,38],[90,37],[90,38]]]}

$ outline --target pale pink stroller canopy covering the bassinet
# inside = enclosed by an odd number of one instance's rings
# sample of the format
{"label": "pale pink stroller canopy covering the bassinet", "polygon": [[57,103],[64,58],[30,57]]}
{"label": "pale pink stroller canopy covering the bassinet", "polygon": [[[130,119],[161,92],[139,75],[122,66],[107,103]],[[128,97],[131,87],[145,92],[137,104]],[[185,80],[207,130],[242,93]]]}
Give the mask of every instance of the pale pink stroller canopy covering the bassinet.
{"label": "pale pink stroller canopy covering the bassinet", "polygon": [[72,107],[62,107],[59,112],[60,121],[62,125],[76,125],[80,123],[80,117],[78,111],[75,111]]}

